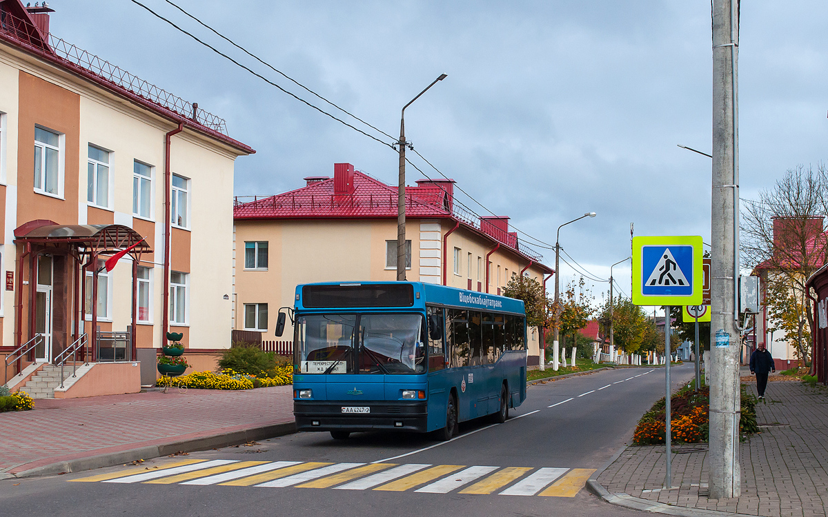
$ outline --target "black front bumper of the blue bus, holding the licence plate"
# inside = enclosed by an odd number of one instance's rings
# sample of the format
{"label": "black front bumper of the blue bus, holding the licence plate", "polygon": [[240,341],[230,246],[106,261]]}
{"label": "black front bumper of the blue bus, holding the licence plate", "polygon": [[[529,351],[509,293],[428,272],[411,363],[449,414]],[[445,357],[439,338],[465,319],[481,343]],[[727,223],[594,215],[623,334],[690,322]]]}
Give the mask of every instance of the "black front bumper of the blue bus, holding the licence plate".
{"label": "black front bumper of the blue bus, holding the licence plate", "polygon": [[[364,412],[368,408],[368,412]],[[363,411],[354,413],[353,411]],[[354,403],[354,400],[294,400],[298,431],[427,431],[425,400]]]}

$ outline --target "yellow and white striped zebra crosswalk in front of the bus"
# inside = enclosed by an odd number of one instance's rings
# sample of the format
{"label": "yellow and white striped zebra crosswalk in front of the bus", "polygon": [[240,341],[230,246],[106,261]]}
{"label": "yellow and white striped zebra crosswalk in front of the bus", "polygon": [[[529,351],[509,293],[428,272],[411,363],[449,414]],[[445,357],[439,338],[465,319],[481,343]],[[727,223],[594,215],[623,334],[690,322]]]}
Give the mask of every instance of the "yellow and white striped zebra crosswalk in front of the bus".
{"label": "yellow and white striped zebra crosswalk in front of the bus", "polygon": [[564,467],[186,459],[67,481],[574,497],[593,472]]}

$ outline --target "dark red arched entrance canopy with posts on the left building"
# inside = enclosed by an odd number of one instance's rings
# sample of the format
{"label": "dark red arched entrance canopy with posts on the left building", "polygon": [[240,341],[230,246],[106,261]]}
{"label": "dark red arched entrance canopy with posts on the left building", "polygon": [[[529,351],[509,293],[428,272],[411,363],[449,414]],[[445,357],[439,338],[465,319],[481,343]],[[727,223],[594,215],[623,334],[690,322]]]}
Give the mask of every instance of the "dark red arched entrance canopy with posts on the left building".
{"label": "dark red arched entrance canopy with posts on the left building", "polygon": [[[137,268],[142,254],[152,253],[144,238],[132,228],[120,224],[57,224],[46,219],[30,221],[17,227],[14,236],[18,258],[15,328],[17,347],[22,342],[31,340],[36,334],[42,333],[41,327],[48,328],[47,350],[38,357],[41,360],[49,360],[58,357],[70,343],[78,343],[84,337],[84,333],[89,333],[92,357],[85,360],[96,361],[99,357],[100,314],[99,303],[92,300],[99,300],[99,273],[103,271],[102,262],[111,256],[123,254],[121,256],[128,255],[132,258],[132,324],[128,331],[131,334],[129,356],[134,361]],[[26,258],[29,259],[27,266]],[[44,264],[48,266],[44,267]],[[27,281],[24,280],[24,276]],[[87,287],[87,281],[91,281],[91,290]],[[24,289],[24,284],[28,284],[28,289]],[[47,312],[41,307],[44,305],[44,296],[40,294],[42,290],[48,290],[49,293]],[[91,307],[84,308],[82,296]],[[24,306],[27,309],[26,316]],[[42,321],[44,314],[48,314],[47,323]],[[23,330],[24,319],[27,320],[27,332]],[[90,323],[89,330],[85,322]],[[18,369],[19,367],[18,365]]]}

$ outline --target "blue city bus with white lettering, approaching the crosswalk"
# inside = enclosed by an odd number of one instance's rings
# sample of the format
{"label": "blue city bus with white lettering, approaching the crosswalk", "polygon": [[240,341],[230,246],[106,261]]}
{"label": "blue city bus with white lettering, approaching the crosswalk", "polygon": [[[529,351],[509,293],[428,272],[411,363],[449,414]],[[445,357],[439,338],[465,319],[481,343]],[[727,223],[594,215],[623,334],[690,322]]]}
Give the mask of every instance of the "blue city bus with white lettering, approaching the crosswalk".
{"label": "blue city bus with white lettering, approaching the crosswalk", "polygon": [[288,310],[299,430],[447,440],[460,422],[503,422],[526,400],[522,300],[420,282],[318,283],[298,285]]}

